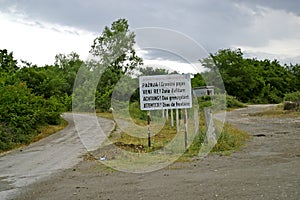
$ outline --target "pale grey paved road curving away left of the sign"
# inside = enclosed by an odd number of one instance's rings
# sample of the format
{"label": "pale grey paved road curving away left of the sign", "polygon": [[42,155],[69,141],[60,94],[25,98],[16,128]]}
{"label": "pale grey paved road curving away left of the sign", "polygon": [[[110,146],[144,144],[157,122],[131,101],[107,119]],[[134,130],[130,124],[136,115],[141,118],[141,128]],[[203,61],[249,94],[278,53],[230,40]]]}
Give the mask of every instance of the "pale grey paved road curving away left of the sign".
{"label": "pale grey paved road curving away left of the sign", "polygon": [[[69,123],[64,130],[0,157],[0,199],[13,199],[22,187],[76,165],[91,148],[86,141],[99,147],[103,133],[114,128],[113,121],[88,114],[65,113],[63,118]],[[95,136],[101,141],[93,140]]]}

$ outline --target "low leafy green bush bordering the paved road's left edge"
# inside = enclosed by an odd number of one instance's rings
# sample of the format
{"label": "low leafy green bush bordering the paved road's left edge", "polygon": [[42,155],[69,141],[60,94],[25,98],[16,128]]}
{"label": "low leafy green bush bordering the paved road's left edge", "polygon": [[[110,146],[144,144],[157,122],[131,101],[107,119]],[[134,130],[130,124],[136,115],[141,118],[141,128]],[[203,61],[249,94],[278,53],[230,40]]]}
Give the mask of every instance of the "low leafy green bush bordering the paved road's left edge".
{"label": "low leafy green bush bordering the paved road's left edge", "polygon": [[0,86],[0,151],[28,144],[41,125],[58,124],[62,104],[35,96],[25,83]]}

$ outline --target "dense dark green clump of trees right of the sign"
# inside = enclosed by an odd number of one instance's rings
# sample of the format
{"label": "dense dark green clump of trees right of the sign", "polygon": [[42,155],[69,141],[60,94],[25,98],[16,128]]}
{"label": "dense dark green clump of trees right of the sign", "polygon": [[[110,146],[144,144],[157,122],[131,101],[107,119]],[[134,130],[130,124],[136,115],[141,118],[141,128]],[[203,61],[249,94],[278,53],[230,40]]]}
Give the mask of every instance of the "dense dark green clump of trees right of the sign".
{"label": "dense dark green clump of trees right of the sign", "polygon": [[[280,103],[286,93],[300,91],[299,64],[244,58],[241,49],[222,49],[200,62],[208,69],[202,75],[209,78],[211,71],[219,70],[227,94],[244,103]],[[201,76],[195,78],[203,84]]]}

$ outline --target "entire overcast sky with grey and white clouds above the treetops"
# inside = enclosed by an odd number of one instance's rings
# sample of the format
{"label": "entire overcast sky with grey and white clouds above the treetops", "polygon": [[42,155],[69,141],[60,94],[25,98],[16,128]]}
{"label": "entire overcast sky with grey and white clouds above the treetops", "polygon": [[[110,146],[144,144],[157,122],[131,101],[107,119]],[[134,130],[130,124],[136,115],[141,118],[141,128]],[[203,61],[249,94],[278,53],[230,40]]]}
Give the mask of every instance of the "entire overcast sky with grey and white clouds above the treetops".
{"label": "entire overcast sky with grey and white clouds above the treetops", "polygon": [[193,71],[191,63],[225,48],[300,63],[298,0],[0,0],[0,49],[40,66],[72,51],[85,60],[119,18],[137,33],[138,53],[150,64]]}

